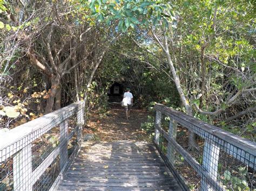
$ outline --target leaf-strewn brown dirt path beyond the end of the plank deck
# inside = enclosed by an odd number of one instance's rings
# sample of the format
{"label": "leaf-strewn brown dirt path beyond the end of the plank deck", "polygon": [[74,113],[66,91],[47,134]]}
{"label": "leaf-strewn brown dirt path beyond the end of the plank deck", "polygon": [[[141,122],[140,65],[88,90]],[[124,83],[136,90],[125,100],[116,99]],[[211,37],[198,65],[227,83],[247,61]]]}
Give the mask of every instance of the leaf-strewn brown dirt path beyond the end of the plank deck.
{"label": "leaf-strewn brown dirt path beyond the end of the plank deck", "polygon": [[85,133],[93,133],[100,141],[116,140],[146,140],[147,136],[140,129],[140,124],[146,122],[147,112],[141,109],[131,110],[130,119],[126,119],[124,108],[111,105],[107,117],[100,118],[92,114],[85,128]]}

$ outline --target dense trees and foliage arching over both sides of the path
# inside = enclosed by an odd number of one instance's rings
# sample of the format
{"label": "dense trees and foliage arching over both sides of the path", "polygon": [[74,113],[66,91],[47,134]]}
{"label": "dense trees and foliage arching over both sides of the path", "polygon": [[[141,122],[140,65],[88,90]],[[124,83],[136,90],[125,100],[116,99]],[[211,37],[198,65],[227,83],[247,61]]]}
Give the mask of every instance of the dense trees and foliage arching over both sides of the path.
{"label": "dense trees and foliage arching over both sides of the path", "polygon": [[[77,100],[107,107],[114,82],[255,135],[252,1],[0,1],[1,128]],[[151,119],[150,119],[151,120]]]}

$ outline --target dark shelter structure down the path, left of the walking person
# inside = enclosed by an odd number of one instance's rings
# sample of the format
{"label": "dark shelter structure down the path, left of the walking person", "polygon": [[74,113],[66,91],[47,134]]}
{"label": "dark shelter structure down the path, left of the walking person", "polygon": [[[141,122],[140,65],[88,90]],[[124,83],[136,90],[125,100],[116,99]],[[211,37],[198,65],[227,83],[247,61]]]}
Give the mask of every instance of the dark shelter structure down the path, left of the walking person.
{"label": "dark shelter structure down the path, left of the walking person", "polygon": [[124,94],[124,86],[118,82],[114,82],[107,91],[109,102],[121,102]]}

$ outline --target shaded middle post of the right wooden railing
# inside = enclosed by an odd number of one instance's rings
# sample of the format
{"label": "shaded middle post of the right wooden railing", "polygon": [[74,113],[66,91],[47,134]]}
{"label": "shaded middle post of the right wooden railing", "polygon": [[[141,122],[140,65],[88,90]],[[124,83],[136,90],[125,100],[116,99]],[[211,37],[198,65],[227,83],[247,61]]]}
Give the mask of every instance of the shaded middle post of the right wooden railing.
{"label": "shaded middle post of the right wooden railing", "polygon": [[[177,122],[171,119],[169,122],[169,138],[176,140],[176,136],[177,136]],[[168,145],[167,145],[167,158],[169,159],[171,164],[174,165],[175,149],[174,149],[174,146],[171,144],[170,140],[168,140]]]}

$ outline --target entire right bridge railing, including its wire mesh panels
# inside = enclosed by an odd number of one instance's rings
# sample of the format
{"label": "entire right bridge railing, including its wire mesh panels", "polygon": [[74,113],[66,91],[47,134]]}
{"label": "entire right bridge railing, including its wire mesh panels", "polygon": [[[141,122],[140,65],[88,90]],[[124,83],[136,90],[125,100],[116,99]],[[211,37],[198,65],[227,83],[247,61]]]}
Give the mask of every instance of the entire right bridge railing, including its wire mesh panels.
{"label": "entire right bridge railing, including its wire mesh panels", "polygon": [[[256,189],[256,144],[156,104],[154,142],[184,190]],[[196,134],[194,145],[188,132]]]}

